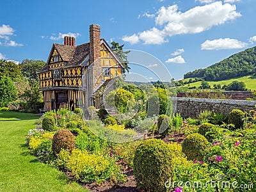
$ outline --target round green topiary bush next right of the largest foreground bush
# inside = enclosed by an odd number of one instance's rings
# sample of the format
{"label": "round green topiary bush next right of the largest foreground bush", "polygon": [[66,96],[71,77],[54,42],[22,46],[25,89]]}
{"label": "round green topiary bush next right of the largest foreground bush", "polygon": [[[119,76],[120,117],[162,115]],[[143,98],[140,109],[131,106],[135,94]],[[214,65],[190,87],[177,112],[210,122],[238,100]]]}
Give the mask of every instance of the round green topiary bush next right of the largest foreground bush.
{"label": "round green topiary bush next right of the largest foreground bush", "polygon": [[182,142],[182,152],[186,154],[189,160],[203,161],[207,143],[207,139],[202,134],[189,134]]}

